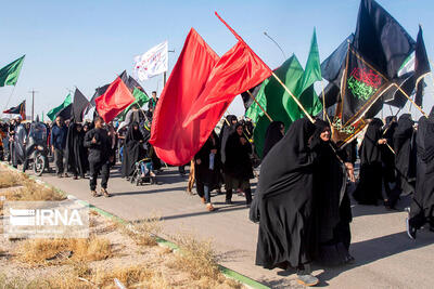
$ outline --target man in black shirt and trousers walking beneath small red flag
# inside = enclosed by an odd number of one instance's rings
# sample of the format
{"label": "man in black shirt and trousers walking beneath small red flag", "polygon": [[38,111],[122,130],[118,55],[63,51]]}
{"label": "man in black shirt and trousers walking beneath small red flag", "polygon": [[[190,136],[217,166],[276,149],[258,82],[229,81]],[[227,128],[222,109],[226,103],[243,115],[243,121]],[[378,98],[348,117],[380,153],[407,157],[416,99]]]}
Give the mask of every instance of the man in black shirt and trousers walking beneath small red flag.
{"label": "man in black shirt and trousers walking beneath small red flag", "polygon": [[101,171],[101,194],[110,197],[107,182],[110,176],[110,162],[114,156],[110,155],[111,139],[103,128],[104,120],[101,117],[94,119],[94,129],[85,135],[85,147],[89,148],[90,191],[93,197],[101,196],[97,193],[97,178]]}

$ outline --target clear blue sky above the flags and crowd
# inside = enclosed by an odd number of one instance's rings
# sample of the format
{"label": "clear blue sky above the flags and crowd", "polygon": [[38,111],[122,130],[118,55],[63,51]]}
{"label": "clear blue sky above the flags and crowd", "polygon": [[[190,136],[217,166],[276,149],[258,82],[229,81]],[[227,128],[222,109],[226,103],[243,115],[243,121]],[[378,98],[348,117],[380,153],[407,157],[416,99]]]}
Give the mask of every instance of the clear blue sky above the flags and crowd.
{"label": "clear blue sky above the flags and crowd", "polygon": [[[416,39],[418,24],[424,28],[429,56],[434,58],[432,0],[379,0]],[[267,31],[283,48],[306,62],[314,26],[321,60],[355,30],[359,0],[268,1],[4,1],[0,11],[0,66],[26,54],[22,75],[8,107],[27,100],[35,88],[36,113],[62,103],[67,89],[78,87],[90,98],[94,89],[111,82],[122,70],[131,73],[135,55],[168,40],[169,68],[194,27],[219,54],[235,39],[214,16],[219,14],[272,68],[283,61],[281,52],[264,36]],[[433,80],[424,106],[434,104]],[[142,83],[148,92],[162,89],[162,77]],[[0,88],[3,110],[12,87]],[[231,113],[243,113],[238,100]]]}

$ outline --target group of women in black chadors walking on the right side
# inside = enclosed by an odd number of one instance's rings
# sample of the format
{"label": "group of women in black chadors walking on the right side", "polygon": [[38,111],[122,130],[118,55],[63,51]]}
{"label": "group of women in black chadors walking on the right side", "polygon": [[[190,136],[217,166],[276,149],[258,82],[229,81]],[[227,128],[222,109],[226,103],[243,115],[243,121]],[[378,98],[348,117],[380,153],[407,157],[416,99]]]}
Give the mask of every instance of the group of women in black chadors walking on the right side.
{"label": "group of women in black chadors walking on the right side", "polygon": [[[326,265],[352,262],[352,222],[347,181],[354,182],[357,143],[336,149],[328,122],[294,121],[267,130],[259,182],[250,219],[259,224],[256,264],[294,267],[298,281],[312,286],[312,261]],[[372,119],[358,155],[360,174],[354,198],[360,205],[383,201],[394,208],[413,194],[407,232],[426,223],[434,228],[434,108],[416,128],[411,115]],[[385,193],[383,194],[383,186]],[[434,229],[433,229],[434,231]]]}

